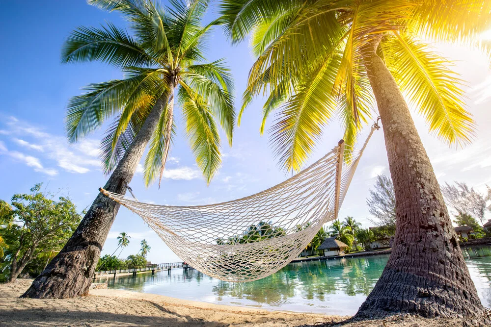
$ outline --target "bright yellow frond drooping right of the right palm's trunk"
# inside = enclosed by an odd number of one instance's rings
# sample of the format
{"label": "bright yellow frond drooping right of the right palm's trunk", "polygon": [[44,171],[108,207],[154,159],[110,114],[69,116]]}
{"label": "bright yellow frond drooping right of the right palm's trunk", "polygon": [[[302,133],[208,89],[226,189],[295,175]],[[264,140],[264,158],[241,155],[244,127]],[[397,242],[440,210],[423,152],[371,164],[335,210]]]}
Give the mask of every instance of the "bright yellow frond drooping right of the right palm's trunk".
{"label": "bright yellow frond drooping right of the right palm's trunk", "polygon": [[470,143],[474,121],[465,110],[463,81],[452,63],[422,41],[396,34],[383,45],[392,75],[431,132],[448,144]]}

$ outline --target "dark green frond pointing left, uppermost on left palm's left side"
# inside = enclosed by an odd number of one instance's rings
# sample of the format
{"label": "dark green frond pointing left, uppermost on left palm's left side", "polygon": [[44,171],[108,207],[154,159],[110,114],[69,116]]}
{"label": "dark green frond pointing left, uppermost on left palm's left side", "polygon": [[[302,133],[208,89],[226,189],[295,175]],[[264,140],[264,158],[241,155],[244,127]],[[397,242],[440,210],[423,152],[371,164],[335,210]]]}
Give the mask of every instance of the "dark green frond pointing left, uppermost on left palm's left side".
{"label": "dark green frond pointing left, uppermost on left palm's left side", "polygon": [[112,24],[101,28],[79,27],[63,44],[62,62],[93,60],[117,67],[149,66],[155,62],[126,31]]}

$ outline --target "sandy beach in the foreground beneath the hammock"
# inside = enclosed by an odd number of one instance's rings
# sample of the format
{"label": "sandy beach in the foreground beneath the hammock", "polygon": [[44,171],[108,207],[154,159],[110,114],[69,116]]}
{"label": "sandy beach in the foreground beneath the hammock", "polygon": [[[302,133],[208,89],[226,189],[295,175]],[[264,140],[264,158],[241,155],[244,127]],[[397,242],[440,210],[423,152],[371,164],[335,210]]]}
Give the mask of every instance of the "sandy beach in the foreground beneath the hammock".
{"label": "sandy beach in the foreground beneath the hammock", "polygon": [[[339,326],[349,317],[218,305],[155,294],[91,289],[89,296],[65,300],[20,299],[31,279],[0,284],[0,326]],[[471,326],[473,324],[470,324]],[[406,316],[343,324],[349,327],[461,327],[460,320]]]}

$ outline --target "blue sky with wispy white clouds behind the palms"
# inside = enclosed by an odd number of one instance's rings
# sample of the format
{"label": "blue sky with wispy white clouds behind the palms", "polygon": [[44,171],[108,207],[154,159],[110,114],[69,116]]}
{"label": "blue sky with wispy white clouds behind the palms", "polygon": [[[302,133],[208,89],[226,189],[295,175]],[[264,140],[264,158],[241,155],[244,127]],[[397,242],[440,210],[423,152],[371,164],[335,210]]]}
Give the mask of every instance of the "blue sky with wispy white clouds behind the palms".
{"label": "blue sky with wispy white clouds behind the palms", "polygon": [[[29,3],[27,3],[29,2]],[[38,182],[51,191],[62,189],[78,208],[90,205],[105,184],[107,176],[100,169],[97,156],[102,128],[75,145],[68,145],[63,131],[65,105],[80,88],[91,82],[121,77],[112,67],[99,63],[59,63],[60,48],[71,30],[80,25],[98,26],[105,21],[123,26],[115,13],[89,6],[84,0],[71,1],[1,1],[0,51],[0,199],[14,193],[28,192]],[[26,9],[28,8],[28,10]],[[211,10],[206,22],[214,17]],[[208,59],[225,57],[236,81],[236,94],[245,89],[253,57],[246,43],[230,46],[221,29],[209,40]],[[465,181],[479,190],[491,184],[491,74],[487,59],[477,51],[436,45],[444,55],[457,60],[455,69],[468,81],[468,109],[478,122],[476,138],[465,149],[449,149],[428,134],[424,121],[414,116],[421,138],[434,164],[440,183]],[[260,137],[262,100],[246,111],[242,125],[234,135],[234,144],[222,145],[223,165],[210,186],[198,171],[178,122],[178,135],[171,149],[162,187],[145,189],[140,172],[131,186],[140,201],[173,205],[206,204],[227,201],[259,192],[285,178],[269,147],[267,136]],[[237,101],[237,107],[240,102]],[[179,117],[178,117],[179,118]],[[271,124],[270,120],[269,124]],[[368,133],[366,129],[361,139]],[[338,122],[326,131],[311,162],[331,150],[342,137]],[[224,135],[222,135],[224,139]],[[360,162],[340,217],[354,216],[363,226],[371,226],[365,199],[377,174],[388,174],[382,131],[372,138]],[[125,231],[132,236],[130,246],[121,256],[136,253],[142,238],[152,247],[148,258],[153,262],[180,260],[141,219],[121,208],[111,228],[103,254],[116,248],[116,236]]]}

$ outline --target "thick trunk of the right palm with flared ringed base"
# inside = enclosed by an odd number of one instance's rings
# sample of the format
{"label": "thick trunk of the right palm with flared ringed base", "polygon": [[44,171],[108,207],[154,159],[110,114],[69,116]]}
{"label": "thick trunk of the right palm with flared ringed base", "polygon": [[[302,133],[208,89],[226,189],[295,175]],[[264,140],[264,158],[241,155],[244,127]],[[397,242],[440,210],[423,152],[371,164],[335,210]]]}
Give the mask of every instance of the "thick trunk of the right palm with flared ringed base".
{"label": "thick trunk of the right palm with flared ringed base", "polygon": [[[377,44],[378,45],[378,44]],[[382,59],[364,57],[382,119],[396,197],[396,234],[382,277],[355,319],[407,312],[423,317],[483,318],[459,239],[408,105]]]}

